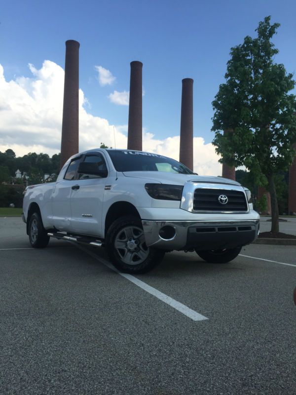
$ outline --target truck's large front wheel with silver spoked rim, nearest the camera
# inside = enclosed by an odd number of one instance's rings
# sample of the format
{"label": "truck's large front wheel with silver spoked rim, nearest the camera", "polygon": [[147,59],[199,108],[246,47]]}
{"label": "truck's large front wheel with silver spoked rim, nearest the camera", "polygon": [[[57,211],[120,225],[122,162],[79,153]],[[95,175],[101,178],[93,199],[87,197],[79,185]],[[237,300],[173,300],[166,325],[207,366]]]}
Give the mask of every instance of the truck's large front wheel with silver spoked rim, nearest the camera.
{"label": "truck's large front wheel with silver spoked rim, nearest the camera", "polygon": [[137,217],[118,218],[108,229],[106,249],[112,264],[123,273],[147,273],[160,263],[165,252],[147,247]]}

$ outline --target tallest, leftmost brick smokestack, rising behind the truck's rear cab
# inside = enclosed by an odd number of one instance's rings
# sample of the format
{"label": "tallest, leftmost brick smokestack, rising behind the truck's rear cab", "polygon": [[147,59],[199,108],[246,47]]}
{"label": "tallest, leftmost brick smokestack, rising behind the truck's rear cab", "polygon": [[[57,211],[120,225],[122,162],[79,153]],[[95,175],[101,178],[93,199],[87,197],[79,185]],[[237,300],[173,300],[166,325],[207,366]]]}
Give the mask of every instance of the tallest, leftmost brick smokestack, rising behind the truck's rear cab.
{"label": "tallest, leftmost brick smokestack, rising behind the truck's rear cab", "polygon": [[66,41],[61,168],[79,150],[79,46],[79,42],[75,40]]}

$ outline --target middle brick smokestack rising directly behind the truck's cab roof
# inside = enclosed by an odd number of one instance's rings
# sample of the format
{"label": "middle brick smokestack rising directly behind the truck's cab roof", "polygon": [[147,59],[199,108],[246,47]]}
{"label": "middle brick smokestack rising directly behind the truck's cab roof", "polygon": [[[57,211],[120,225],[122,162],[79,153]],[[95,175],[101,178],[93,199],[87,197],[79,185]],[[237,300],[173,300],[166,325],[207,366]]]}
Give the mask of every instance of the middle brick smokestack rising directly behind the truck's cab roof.
{"label": "middle brick smokestack rising directly behind the truck's cab roof", "polygon": [[142,69],[143,63],[131,62],[127,149],[142,151]]}

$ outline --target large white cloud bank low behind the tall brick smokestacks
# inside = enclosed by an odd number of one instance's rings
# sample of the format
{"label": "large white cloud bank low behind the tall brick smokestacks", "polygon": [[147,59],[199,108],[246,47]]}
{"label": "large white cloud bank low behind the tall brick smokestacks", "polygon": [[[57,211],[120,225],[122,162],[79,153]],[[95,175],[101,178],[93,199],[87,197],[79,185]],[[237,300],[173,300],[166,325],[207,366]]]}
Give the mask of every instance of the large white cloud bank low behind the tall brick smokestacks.
{"label": "large white cloud bank low behind the tall brick smokestacks", "polygon": [[[17,156],[43,152],[50,156],[60,151],[63,114],[64,70],[45,60],[37,70],[29,65],[31,78],[6,81],[0,65],[0,151],[11,148]],[[127,92],[128,93],[128,92]],[[79,90],[79,150],[97,148],[101,142],[114,147],[113,125],[94,117],[85,107],[87,100]],[[127,126],[114,126],[116,148],[126,149]],[[174,159],[179,158],[180,137],[156,139],[143,132],[143,149]],[[222,166],[212,144],[194,137],[194,171],[221,175]]]}

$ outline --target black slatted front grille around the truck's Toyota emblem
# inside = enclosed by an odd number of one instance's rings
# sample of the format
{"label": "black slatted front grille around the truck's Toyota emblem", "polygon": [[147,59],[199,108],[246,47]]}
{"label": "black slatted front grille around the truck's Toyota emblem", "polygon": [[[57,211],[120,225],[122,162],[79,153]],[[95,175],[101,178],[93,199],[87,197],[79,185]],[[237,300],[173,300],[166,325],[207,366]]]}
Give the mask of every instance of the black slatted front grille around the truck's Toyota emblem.
{"label": "black slatted front grille around the truck's Toyota emblem", "polygon": [[[222,204],[221,201],[227,202]],[[226,189],[197,188],[193,198],[194,211],[248,211],[247,200],[244,192]]]}

